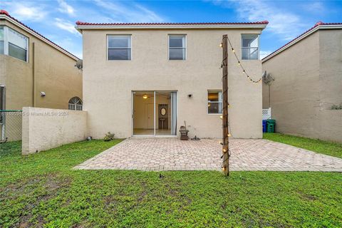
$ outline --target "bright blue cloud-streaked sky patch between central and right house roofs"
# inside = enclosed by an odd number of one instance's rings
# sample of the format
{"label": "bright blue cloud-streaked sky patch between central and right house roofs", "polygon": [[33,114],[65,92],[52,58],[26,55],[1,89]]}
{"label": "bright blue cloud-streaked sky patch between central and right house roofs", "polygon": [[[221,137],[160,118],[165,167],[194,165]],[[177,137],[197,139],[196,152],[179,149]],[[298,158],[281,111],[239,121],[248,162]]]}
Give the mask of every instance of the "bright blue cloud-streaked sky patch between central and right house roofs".
{"label": "bright blue cloud-streaked sky patch between central and right house roofs", "polygon": [[291,13],[272,4],[271,1],[215,1],[214,4],[219,4],[224,7],[232,8],[234,4],[239,17],[248,21],[269,21],[266,30],[281,36],[281,39],[289,41],[298,36],[310,24],[305,24],[301,16]]}

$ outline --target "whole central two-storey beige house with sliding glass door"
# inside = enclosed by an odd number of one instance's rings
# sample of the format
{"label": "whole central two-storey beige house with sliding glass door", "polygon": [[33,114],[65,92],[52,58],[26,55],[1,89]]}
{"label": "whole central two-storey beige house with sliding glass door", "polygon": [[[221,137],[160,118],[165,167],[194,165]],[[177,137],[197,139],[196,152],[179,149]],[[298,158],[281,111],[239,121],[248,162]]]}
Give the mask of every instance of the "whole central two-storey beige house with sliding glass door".
{"label": "whole central two-storey beige house with sliding glass door", "polygon": [[[257,80],[259,34],[266,24],[76,22],[83,35],[89,134],[178,135],[186,122],[190,137],[222,138],[222,35],[228,34],[244,68]],[[228,71],[232,136],[261,138],[261,83],[244,76],[231,48]]]}

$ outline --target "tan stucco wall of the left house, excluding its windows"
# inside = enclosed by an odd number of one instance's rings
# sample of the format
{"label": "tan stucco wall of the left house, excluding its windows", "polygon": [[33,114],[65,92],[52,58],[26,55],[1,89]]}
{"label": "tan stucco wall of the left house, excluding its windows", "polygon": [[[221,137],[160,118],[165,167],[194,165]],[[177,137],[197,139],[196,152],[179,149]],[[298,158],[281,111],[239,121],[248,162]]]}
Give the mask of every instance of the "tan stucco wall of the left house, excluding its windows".
{"label": "tan stucco wall of the left house, excluding its windows", "polygon": [[[39,40],[9,21],[0,21],[28,37],[28,62],[0,55],[0,84],[6,86],[6,109],[21,110],[33,106],[33,43],[34,43],[34,106],[68,109],[68,100],[82,97],[82,72],[76,60]],[[46,93],[41,97],[41,91]]]}

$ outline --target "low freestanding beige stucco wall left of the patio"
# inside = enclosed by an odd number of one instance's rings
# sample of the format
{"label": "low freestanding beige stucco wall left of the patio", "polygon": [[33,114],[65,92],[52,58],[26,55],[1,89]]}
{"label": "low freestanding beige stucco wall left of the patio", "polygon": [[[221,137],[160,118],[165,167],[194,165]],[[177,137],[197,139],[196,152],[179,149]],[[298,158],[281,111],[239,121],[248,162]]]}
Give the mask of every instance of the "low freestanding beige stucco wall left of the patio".
{"label": "low freestanding beige stucco wall left of the patio", "polygon": [[22,154],[85,140],[86,132],[85,111],[24,107]]}

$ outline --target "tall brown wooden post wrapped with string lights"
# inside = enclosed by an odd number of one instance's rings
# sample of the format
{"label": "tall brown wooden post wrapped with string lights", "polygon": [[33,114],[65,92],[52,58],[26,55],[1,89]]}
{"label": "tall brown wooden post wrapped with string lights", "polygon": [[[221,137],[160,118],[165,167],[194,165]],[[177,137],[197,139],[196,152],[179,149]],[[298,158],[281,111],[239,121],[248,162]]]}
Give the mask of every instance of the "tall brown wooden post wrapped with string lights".
{"label": "tall brown wooden post wrapped with string lights", "polygon": [[228,128],[228,36],[222,36],[222,170],[229,176],[229,128]]}

